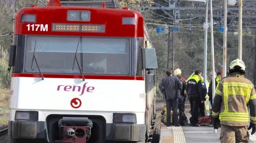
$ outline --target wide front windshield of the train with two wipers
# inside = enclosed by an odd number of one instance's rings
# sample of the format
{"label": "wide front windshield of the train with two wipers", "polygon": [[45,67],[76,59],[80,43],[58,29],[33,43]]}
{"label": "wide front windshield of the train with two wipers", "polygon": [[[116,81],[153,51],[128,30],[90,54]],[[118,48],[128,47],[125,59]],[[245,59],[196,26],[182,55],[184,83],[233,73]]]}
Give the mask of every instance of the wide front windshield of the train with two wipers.
{"label": "wide front windshield of the train with two wipers", "polygon": [[131,39],[27,36],[24,72],[37,65],[42,73],[131,75]]}

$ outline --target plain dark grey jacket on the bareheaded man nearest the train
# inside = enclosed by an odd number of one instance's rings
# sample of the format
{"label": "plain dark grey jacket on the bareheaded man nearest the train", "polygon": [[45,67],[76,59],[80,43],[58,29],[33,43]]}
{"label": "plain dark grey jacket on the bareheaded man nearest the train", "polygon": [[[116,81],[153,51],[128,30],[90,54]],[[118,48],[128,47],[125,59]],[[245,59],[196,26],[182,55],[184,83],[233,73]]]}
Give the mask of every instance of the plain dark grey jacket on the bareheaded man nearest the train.
{"label": "plain dark grey jacket on the bareheaded man nearest the train", "polygon": [[167,76],[159,83],[159,89],[164,99],[177,99],[181,97],[182,82],[178,77]]}

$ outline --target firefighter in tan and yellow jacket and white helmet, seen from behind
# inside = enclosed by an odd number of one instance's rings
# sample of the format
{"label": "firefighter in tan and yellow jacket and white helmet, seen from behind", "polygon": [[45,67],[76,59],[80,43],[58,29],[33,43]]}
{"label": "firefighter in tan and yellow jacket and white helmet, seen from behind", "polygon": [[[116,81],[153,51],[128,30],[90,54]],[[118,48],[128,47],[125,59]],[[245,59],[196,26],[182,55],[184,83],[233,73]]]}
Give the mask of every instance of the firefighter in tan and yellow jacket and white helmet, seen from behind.
{"label": "firefighter in tan and yellow jacket and white helmet, seen from behind", "polygon": [[[256,131],[256,92],[252,82],[246,78],[242,60],[233,60],[229,76],[221,79],[216,89],[212,107],[213,125],[221,124],[221,143],[248,143],[248,130]],[[248,127],[250,107],[250,126]]]}

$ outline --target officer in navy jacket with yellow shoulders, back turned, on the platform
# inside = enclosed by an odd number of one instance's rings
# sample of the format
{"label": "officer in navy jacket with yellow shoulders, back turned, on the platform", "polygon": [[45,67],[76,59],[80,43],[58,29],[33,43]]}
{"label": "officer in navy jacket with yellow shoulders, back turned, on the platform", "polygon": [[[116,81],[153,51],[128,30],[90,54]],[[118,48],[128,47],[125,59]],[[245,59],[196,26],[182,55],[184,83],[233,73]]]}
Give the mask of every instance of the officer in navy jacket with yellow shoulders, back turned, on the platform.
{"label": "officer in navy jacket with yellow shoulders, back turned, on the platform", "polygon": [[194,75],[187,80],[187,93],[190,100],[190,106],[192,110],[192,117],[190,118],[191,126],[198,125],[198,109],[201,103],[204,101],[203,89],[202,89],[202,73],[200,70],[194,72]]}

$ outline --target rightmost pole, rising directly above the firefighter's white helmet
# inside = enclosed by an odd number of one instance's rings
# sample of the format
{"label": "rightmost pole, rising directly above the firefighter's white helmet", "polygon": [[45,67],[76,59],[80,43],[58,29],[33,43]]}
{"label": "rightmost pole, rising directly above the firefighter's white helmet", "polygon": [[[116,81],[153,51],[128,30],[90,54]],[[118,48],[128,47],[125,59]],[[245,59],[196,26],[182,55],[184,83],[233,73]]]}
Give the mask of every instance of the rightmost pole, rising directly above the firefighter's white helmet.
{"label": "rightmost pole, rising directly above the firefighter's white helmet", "polygon": [[239,0],[238,59],[242,60],[243,48],[243,0]]}

